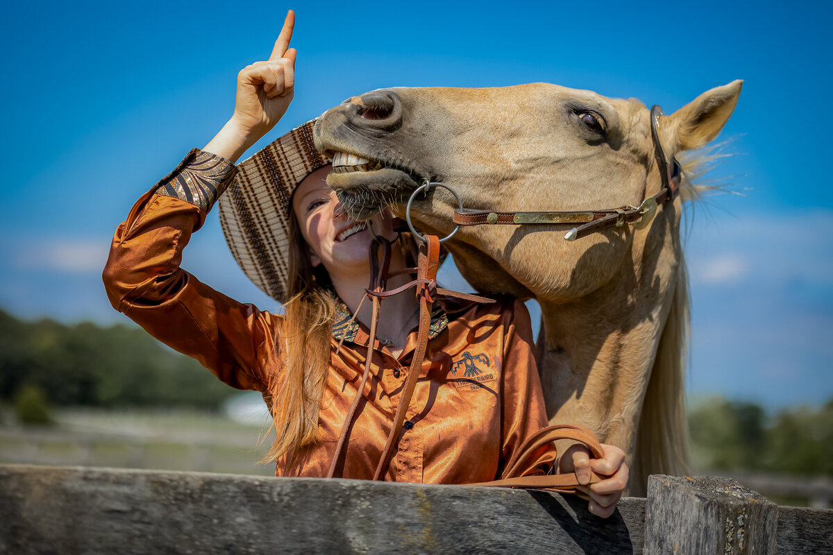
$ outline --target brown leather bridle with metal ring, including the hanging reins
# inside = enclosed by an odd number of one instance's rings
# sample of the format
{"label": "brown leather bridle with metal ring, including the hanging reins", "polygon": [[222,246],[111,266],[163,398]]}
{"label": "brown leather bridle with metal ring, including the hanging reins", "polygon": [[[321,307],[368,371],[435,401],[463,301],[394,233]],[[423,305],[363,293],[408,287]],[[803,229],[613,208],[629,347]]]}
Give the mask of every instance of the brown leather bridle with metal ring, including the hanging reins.
{"label": "brown leather bridle with metal ring, including the hanging reins", "polygon": [[[440,243],[451,239],[460,229],[460,225],[523,225],[523,224],[581,224],[569,230],[564,236],[566,240],[576,240],[596,231],[605,230],[609,227],[621,227],[625,224],[636,223],[640,224],[650,223],[653,214],[656,212],[656,207],[667,201],[672,201],[680,191],[681,167],[680,164],[672,159],[671,166],[669,166],[666,159],[665,151],[662,149],[659,137],[659,119],[662,116],[662,109],[659,106],[651,107],[651,137],[654,141],[654,156],[656,164],[660,171],[662,178],[662,188],[654,196],[647,197],[642,201],[640,206],[620,206],[619,208],[606,208],[592,211],[549,211],[549,212],[498,212],[485,210],[470,210],[462,206],[460,196],[451,187],[443,183],[426,180],[421,186],[412,192],[411,198],[408,200],[406,208],[407,225],[412,231],[413,235],[421,241],[418,264],[416,268],[409,268],[407,270],[416,271],[416,279],[408,282],[406,285],[397,287],[394,290],[387,290],[387,278],[390,277],[388,272],[388,264],[391,259],[391,241],[384,237],[377,237],[373,233],[373,240],[370,249],[371,260],[371,283],[366,289],[367,295],[372,300],[372,320],[370,326],[369,339],[367,344],[367,356],[365,358],[365,368],[362,373],[362,379],[358,385],[357,393],[353,399],[350,409],[347,411],[347,419],[342,426],[342,432],[337,442],[337,447],[330,464],[328,478],[337,477],[340,473],[339,467],[342,464],[342,457],[347,449],[347,443],[352,430],[352,424],[356,418],[357,405],[362,398],[362,392],[367,384],[367,379],[371,374],[373,350],[376,343],[377,324],[379,320],[379,313],[381,310],[382,300],[392,295],[398,295],[406,290],[414,288],[416,290],[416,299],[419,302],[419,328],[417,330],[416,349],[414,350],[412,363],[408,369],[407,378],[402,388],[402,398],[397,407],[392,422],[390,433],[387,436],[385,448],[382,450],[382,456],[377,463],[376,472],[374,473],[374,480],[381,480],[385,478],[388,465],[393,456],[394,450],[397,448],[398,439],[401,437],[402,424],[405,421],[407,410],[410,407],[412,395],[416,388],[416,381],[420,373],[422,361],[425,358],[428,345],[428,328],[431,320],[431,305],[436,300],[436,295],[448,295],[465,300],[475,300],[479,302],[493,302],[491,299],[479,297],[477,295],[468,295],[451,290],[444,290],[436,284],[436,271],[439,266],[440,259]],[[454,195],[458,208],[454,211],[454,223],[456,228],[451,231],[451,234],[446,235],[440,239],[436,235],[422,235],[415,228],[411,220],[411,206],[416,196],[431,186],[439,186],[451,191]],[[647,217],[646,217],[647,216]],[[637,224],[637,225],[640,225]],[[370,226],[372,231],[372,225]],[[362,302],[364,298],[362,299]],[[361,308],[361,304],[359,305]],[[354,314],[354,318],[358,314],[358,309]],[[596,436],[592,434],[589,429],[581,426],[573,426],[569,424],[562,424],[559,426],[549,426],[539,430],[536,434],[532,434],[527,438],[523,445],[516,451],[511,461],[506,465],[505,471],[501,474],[501,478],[490,483],[481,483],[474,485],[491,485],[506,488],[543,488],[551,489],[552,491],[560,492],[575,492],[579,485],[575,474],[561,474],[561,475],[546,475],[546,476],[529,476],[527,475],[534,470],[531,461],[534,460],[534,453],[542,445],[548,444],[557,439],[571,439],[585,444],[591,451],[594,458],[601,458],[604,453],[601,445],[598,443]],[[593,474],[592,482],[597,482],[601,478]]]}

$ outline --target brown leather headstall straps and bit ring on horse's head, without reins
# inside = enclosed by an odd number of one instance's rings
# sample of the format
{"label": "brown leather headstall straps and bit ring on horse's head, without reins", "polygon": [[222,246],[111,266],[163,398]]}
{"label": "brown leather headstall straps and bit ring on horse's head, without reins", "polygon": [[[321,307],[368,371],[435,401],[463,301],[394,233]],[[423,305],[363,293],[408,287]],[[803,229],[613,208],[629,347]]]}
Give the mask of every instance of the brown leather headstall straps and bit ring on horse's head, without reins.
{"label": "brown leather headstall straps and bit ring on horse's head, without reins", "polygon": [[[660,116],[663,115],[661,107],[656,105],[651,107],[651,138],[654,142],[654,158],[660,171],[662,187],[660,192],[647,197],[640,206],[627,205],[589,211],[499,212],[463,208],[460,197],[456,196],[455,193],[459,207],[454,211],[454,223],[457,227],[451,232],[451,235],[456,233],[460,225],[581,224],[576,225],[564,235],[566,240],[576,240],[614,226],[621,227],[636,222],[638,222],[636,223],[637,227],[647,225],[651,222],[656,207],[664,202],[673,201],[680,192],[680,163],[672,158],[671,165],[669,165],[660,142],[659,120]],[[419,190],[427,188],[427,186],[443,186],[448,189],[444,184],[431,182],[426,183]],[[411,201],[408,201],[408,207],[410,208],[410,206]],[[410,210],[407,211],[407,217],[408,225],[411,225]],[[416,234],[412,225],[411,230]],[[416,235],[418,236],[418,234]],[[446,239],[449,239],[451,235],[448,235]]]}

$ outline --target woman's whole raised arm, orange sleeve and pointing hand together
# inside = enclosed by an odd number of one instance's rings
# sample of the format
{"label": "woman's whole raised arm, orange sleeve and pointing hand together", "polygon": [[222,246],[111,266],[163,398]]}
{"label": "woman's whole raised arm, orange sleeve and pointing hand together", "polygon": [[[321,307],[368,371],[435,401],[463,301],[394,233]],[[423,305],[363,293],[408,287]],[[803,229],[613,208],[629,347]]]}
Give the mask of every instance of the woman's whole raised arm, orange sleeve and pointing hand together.
{"label": "woman's whole raised arm, orange sleeve and pointing hand together", "polygon": [[147,191],[119,225],[103,273],[112,305],[239,389],[266,389],[280,367],[279,316],[229,299],[179,267],[182,250],[237,170],[233,162],[287,111],[294,86],[291,11],[265,62],[237,77],[232,118]]}

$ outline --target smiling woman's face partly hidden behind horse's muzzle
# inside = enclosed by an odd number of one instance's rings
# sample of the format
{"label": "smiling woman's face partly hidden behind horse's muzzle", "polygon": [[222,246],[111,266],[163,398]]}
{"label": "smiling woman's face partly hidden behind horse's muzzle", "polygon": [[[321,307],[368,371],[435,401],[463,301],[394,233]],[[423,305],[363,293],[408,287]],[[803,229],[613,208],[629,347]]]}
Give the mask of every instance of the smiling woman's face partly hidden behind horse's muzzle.
{"label": "smiling woman's face partly hidden behind horse's muzzle", "polygon": [[327,174],[331,170],[332,166],[319,168],[297,186],[292,196],[292,211],[312,251],[310,263],[323,264],[330,277],[337,280],[338,275],[367,273],[372,240],[367,225],[372,222],[377,235],[391,240],[396,234],[387,210],[368,222],[348,220],[341,214],[336,194],[327,186]]}

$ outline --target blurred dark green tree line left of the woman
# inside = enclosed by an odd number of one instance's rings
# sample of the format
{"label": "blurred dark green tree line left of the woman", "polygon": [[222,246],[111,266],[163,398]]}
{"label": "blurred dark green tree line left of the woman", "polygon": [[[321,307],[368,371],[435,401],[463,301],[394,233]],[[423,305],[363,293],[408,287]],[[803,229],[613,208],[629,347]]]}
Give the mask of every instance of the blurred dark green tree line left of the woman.
{"label": "blurred dark green tree line left of the woman", "polygon": [[217,409],[233,393],[196,360],[135,326],[27,322],[0,310],[0,399],[57,406]]}

